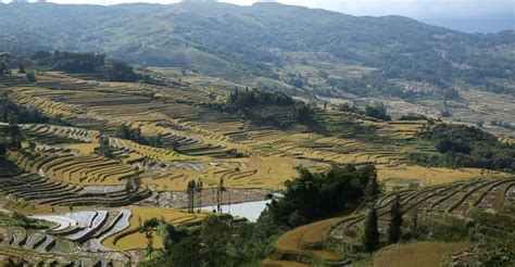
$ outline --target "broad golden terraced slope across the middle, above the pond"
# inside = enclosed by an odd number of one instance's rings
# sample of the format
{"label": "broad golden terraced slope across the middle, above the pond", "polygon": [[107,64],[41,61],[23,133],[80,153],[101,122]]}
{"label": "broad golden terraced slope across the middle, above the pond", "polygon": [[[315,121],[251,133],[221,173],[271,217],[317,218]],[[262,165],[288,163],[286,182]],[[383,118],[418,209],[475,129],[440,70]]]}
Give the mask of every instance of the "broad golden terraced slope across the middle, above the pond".
{"label": "broad golden terraced slope across the middle, above the pond", "polygon": [[[64,142],[85,143],[67,145],[84,152],[92,151],[95,145],[87,143],[96,142],[101,130],[110,136],[114,153],[126,163],[134,165],[143,157],[167,163],[169,171],[152,176],[164,179],[143,179],[160,190],[183,190],[189,180],[199,178],[206,179],[208,185],[224,178],[231,187],[280,188],[285,180],[294,177],[294,166],[317,169],[332,163],[377,164],[379,176],[392,187],[480,176],[479,169],[413,166],[410,153],[436,153],[429,143],[413,139],[427,126],[425,120],[385,123],[318,109],[315,120],[324,126],[322,131],[302,127],[279,130],[202,104],[224,101],[227,93],[219,89],[186,84],[165,88],[91,81],[60,73],[43,73],[38,77],[36,86],[7,88],[11,100],[37,107],[49,116],[63,116],[75,128],[24,126],[28,136],[48,144],[63,138],[70,140],[61,140]],[[72,110],[73,113],[67,112]],[[122,124],[139,128],[143,136],[160,136],[162,145],[150,148],[115,138],[114,131]],[[179,163],[184,161],[196,164]]]}

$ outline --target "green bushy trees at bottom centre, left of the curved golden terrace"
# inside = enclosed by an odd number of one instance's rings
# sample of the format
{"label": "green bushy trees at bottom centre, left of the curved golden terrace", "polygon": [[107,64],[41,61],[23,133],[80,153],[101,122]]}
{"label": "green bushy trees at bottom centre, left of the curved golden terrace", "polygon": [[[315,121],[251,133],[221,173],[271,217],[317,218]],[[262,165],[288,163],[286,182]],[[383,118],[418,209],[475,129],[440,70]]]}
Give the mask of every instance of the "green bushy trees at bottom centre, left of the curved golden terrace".
{"label": "green bushy trees at bottom centre, left of the curved golden terrace", "polygon": [[213,215],[205,218],[199,228],[176,228],[160,221],[156,229],[164,247],[143,266],[259,265],[273,252],[273,240],[284,230],[271,224],[266,212],[258,223],[235,219],[230,215]]}

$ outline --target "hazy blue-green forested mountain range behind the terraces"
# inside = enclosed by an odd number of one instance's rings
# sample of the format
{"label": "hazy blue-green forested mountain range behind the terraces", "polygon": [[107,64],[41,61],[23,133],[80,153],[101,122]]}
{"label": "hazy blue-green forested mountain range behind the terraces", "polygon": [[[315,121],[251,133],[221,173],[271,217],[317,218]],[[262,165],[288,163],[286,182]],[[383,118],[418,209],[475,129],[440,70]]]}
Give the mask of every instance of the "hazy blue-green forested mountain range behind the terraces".
{"label": "hazy blue-green forested mountain range behind the terraces", "polygon": [[311,64],[309,56],[321,62],[321,71],[336,63],[364,65],[381,69],[381,78],[440,86],[456,78],[478,85],[513,79],[515,73],[513,30],[473,35],[403,16],[352,16],[278,3],[0,4],[0,51],[54,49],[237,81],[294,76],[291,66]]}

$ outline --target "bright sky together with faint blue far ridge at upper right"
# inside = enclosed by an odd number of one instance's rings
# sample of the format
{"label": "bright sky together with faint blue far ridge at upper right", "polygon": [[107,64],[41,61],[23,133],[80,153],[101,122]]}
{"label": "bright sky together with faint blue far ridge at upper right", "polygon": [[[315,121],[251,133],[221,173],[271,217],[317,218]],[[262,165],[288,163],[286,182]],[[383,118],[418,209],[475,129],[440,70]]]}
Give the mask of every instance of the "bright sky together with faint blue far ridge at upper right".
{"label": "bright sky together with faint blue far ridge at upper right", "polygon": [[[226,2],[251,5],[255,2],[280,2],[282,4],[325,9],[359,16],[402,15],[420,22],[465,33],[498,33],[515,29],[513,2],[510,0],[394,0],[384,4],[380,0],[15,0],[16,2],[52,2],[63,4],[113,5],[130,2],[177,3],[177,2]],[[3,0],[0,2],[14,2]]]}

